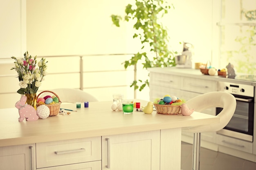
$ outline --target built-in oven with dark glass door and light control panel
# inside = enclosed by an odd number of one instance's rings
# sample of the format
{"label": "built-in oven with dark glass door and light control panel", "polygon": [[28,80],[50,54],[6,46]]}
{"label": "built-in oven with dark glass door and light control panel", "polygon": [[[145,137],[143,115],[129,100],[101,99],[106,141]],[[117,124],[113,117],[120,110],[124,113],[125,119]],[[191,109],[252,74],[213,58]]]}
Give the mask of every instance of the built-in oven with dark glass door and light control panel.
{"label": "built-in oven with dark glass door and light control panel", "polygon": [[[254,130],[254,86],[218,82],[218,91],[231,93],[236,98],[236,110],[225,128],[218,134],[246,141],[253,141]],[[216,115],[222,108],[216,108]]]}

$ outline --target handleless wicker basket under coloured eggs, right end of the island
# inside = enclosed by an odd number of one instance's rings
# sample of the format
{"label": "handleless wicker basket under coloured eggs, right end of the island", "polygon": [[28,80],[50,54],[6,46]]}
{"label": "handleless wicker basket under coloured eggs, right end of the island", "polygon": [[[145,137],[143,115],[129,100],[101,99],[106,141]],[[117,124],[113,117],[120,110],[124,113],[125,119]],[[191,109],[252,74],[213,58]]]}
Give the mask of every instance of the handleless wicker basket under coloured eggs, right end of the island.
{"label": "handleless wicker basket under coloured eggs, right end of the island", "polygon": [[163,115],[179,115],[180,113],[180,106],[173,106],[173,105],[164,105],[164,104],[154,104],[155,109],[157,110],[158,114]]}

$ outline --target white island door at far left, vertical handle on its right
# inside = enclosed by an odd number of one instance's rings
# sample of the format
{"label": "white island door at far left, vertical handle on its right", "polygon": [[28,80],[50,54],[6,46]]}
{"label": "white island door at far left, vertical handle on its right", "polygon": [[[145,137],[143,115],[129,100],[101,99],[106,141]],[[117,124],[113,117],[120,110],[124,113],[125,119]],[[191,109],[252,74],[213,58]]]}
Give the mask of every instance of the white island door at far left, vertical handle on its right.
{"label": "white island door at far left, vertical handle on its right", "polygon": [[0,170],[34,170],[35,144],[0,147]]}

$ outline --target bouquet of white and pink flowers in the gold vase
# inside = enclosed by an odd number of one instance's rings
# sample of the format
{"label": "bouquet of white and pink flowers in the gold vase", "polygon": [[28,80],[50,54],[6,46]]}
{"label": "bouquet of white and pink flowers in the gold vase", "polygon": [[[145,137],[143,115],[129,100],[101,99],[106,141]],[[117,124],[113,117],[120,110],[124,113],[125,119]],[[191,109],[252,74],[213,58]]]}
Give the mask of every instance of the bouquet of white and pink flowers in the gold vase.
{"label": "bouquet of white and pink flowers in the gold vase", "polygon": [[[35,94],[41,86],[44,76],[47,75],[47,61],[45,61],[45,58],[42,58],[37,63],[36,56],[32,59],[28,52],[24,53],[24,58],[17,59],[13,56],[11,58],[15,60],[15,67],[11,68],[11,70],[17,71],[20,82],[20,89],[17,93],[22,95]],[[38,68],[36,68],[36,64]]]}

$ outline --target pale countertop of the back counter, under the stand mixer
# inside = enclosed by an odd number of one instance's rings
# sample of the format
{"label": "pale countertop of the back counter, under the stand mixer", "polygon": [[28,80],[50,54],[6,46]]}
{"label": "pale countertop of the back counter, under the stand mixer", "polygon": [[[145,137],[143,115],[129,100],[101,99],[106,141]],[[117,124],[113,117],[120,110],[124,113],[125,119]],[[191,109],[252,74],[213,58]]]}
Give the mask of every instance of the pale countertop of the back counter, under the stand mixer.
{"label": "pale countertop of the back counter, under the stand mixer", "polygon": [[154,72],[154,73],[163,73],[163,74],[168,73],[168,74],[177,75],[177,76],[184,76],[184,77],[187,76],[192,78],[200,78],[200,79],[256,86],[256,82],[250,82],[250,81],[239,80],[239,79],[230,79],[230,78],[220,77],[218,75],[213,75],[213,76],[204,75],[201,73],[200,69],[194,69],[194,68],[154,67],[154,68],[148,68],[148,71]]}

